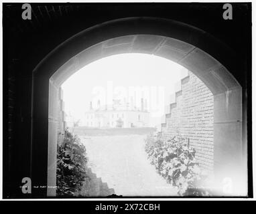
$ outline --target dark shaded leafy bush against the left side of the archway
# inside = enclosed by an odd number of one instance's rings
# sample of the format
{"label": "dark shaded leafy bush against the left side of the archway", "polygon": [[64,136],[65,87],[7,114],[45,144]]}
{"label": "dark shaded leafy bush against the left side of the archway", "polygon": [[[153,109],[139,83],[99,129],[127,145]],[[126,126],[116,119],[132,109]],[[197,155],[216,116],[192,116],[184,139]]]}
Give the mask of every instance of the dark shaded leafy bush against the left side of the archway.
{"label": "dark shaded leafy bush against the left side of the archway", "polygon": [[57,153],[57,195],[74,196],[86,179],[86,149],[77,136],[66,130]]}

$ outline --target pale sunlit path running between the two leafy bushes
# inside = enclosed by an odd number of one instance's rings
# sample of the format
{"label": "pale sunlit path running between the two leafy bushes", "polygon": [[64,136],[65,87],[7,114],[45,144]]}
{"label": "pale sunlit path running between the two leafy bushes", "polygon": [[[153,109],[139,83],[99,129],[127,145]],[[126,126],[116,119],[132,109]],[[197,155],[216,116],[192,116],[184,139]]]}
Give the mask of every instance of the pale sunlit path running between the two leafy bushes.
{"label": "pale sunlit path running between the two leafy bushes", "polygon": [[175,196],[171,187],[150,165],[143,135],[80,136],[86,146],[88,167],[116,195]]}

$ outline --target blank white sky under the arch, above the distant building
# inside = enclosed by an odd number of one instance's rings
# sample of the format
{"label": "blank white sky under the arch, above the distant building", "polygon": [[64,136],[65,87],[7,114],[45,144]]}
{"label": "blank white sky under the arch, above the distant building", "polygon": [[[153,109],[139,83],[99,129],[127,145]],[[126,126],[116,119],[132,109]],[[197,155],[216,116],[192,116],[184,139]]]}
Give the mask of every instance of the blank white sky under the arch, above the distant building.
{"label": "blank white sky under the arch, above the distant building", "polygon": [[117,86],[127,90],[129,86],[163,87],[167,106],[170,95],[178,90],[177,84],[184,76],[184,67],[158,56],[119,54],[103,58],[84,66],[62,84],[65,112],[80,118],[95,98],[93,90],[101,87],[107,91],[107,82],[113,83],[113,89]]}

